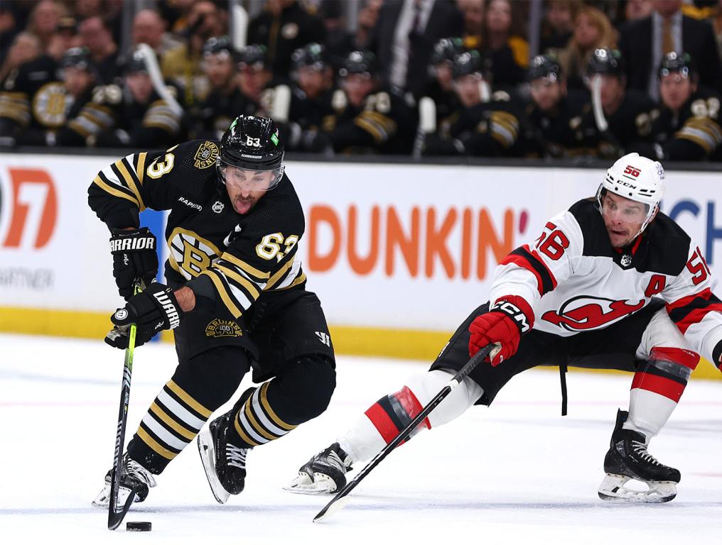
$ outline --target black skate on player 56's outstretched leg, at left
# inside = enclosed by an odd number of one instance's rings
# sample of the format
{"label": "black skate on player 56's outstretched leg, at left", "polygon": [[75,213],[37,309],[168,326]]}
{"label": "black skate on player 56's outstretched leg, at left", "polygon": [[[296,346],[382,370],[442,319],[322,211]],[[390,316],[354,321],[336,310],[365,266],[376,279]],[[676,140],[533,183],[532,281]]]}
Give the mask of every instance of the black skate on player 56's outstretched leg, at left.
{"label": "black skate on player 56's outstretched leg, at left", "polygon": [[301,466],[298,477],[284,490],[297,494],[332,494],[346,486],[346,474],[352,469],[349,455],[339,443],[334,443]]}

